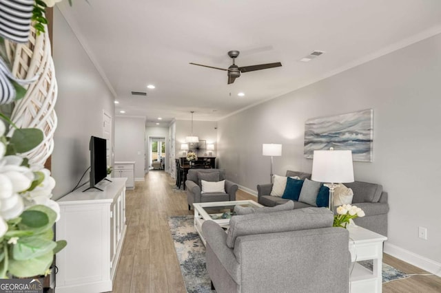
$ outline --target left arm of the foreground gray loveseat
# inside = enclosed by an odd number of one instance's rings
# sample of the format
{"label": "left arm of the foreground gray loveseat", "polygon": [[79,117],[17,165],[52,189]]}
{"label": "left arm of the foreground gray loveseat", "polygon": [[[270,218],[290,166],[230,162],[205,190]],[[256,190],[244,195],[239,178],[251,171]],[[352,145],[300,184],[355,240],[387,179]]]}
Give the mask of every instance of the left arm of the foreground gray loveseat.
{"label": "left arm of the foreground gray loveseat", "polygon": [[[229,276],[240,284],[240,265],[234,256],[234,252],[227,246],[227,233],[214,221],[205,221],[202,224],[202,232],[207,241],[207,246],[212,252]],[[207,249],[208,252],[208,249]],[[207,265],[209,265],[207,263]]]}

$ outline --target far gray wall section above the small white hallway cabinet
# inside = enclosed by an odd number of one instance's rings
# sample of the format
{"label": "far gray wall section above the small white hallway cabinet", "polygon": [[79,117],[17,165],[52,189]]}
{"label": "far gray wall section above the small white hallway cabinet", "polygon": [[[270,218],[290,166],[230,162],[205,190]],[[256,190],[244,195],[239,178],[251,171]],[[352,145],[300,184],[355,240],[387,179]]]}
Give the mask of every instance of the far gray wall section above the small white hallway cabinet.
{"label": "far gray wall section above the small white hallway cabinet", "polygon": [[134,161],[135,180],[144,180],[145,118],[121,117],[115,119],[115,162]]}

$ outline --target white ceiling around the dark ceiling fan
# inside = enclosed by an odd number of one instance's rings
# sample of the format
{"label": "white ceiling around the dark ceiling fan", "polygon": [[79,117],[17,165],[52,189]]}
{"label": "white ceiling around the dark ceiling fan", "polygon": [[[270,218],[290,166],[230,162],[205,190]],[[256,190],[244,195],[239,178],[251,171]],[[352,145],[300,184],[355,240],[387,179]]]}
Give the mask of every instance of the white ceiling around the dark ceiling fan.
{"label": "white ceiling around the dark ceiling fan", "polygon": [[[147,124],[189,120],[190,111],[219,120],[441,32],[440,0],[73,2],[57,6],[119,100],[116,113]],[[240,51],[239,66],[283,67],[227,85],[226,72],[188,64],[227,68],[229,50]],[[314,50],[326,54],[298,61]]]}

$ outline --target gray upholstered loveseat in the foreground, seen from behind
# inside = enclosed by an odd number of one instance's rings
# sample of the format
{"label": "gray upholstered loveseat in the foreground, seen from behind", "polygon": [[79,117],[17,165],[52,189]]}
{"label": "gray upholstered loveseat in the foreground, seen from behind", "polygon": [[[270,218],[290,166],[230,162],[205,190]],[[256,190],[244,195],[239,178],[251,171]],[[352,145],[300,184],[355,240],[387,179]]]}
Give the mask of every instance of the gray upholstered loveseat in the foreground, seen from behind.
{"label": "gray upholstered loveseat in the foreground, seen from behind", "polygon": [[327,208],[236,215],[227,233],[205,221],[207,270],[218,293],[349,291],[349,232]]}

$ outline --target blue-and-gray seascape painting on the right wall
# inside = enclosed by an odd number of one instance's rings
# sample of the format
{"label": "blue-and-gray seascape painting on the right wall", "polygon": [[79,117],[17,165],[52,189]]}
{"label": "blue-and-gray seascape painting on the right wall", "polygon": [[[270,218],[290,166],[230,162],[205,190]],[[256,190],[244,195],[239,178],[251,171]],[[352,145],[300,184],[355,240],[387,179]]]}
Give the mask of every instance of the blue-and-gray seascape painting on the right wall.
{"label": "blue-and-gray seascape painting on the right wall", "polygon": [[352,160],[372,162],[373,110],[322,118],[305,122],[305,158],[312,159],[314,150],[350,149]]}

